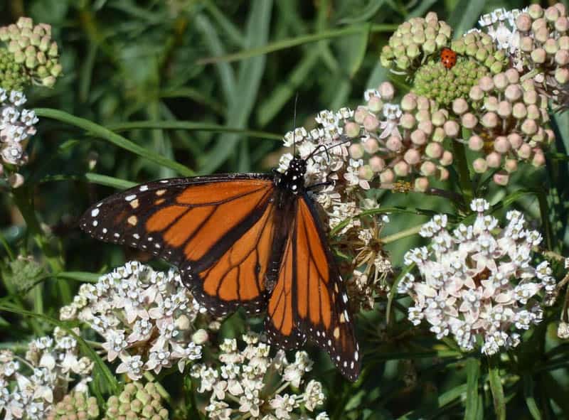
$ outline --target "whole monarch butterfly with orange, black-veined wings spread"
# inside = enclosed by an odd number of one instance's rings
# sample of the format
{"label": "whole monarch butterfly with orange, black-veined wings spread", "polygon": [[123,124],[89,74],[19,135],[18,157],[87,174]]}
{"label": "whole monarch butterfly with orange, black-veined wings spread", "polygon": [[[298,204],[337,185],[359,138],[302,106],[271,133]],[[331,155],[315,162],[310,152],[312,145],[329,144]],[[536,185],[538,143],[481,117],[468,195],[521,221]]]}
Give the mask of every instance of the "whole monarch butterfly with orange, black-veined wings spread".
{"label": "whole monarch butterfly with orange, black-veined wings spread", "polygon": [[307,337],[355,380],[361,357],[346,287],[304,185],[307,161],[285,173],[171,178],[100,201],[80,227],[179,267],[184,285],[216,316],[267,309],[279,348]]}

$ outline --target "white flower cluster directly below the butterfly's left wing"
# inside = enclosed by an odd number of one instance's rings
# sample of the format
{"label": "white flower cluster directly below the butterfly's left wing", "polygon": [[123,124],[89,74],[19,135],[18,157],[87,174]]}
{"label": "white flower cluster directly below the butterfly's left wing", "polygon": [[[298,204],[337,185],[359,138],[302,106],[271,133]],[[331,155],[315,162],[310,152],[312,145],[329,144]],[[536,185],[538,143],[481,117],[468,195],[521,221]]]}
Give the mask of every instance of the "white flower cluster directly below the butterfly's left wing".
{"label": "white flower cluster directly below the butterfly's left wing", "polygon": [[205,312],[174,269],[154,271],[128,262],[97,284],[83,284],[60,318],[87,323],[105,340],[107,360],[121,360],[117,373],[137,380],[145,370],[159,373],[175,363],[182,372],[201,358],[208,334],[196,330],[196,323]]}

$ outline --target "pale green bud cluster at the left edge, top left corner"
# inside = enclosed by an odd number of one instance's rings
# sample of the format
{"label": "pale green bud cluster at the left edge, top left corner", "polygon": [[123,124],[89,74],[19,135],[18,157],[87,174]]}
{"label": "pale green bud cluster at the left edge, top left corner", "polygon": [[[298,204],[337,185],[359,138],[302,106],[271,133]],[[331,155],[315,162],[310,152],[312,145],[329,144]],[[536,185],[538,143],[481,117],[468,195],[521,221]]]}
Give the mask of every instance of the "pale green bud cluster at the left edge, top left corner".
{"label": "pale green bud cluster at the left edge, top left corner", "polygon": [[[21,17],[16,23],[0,28],[0,41],[6,43],[6,49],[0,50],[4,62],[2,75],[8,76],[1,79],[2,87],[21,89],[30,82],[46,87],[55,85],[62,67],[58,45],[51,39],[50,25],[34,25],[31,18]],[[8,73],[10,70],[16,70],[16,77]]]}

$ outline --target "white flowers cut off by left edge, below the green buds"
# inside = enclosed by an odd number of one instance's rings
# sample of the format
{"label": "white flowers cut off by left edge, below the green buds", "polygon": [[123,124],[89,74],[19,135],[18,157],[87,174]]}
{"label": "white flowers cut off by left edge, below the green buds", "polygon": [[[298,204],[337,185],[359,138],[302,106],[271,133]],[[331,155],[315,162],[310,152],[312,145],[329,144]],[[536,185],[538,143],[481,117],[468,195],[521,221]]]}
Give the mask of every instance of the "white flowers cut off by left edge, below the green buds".
{"label": "white flowers cut off by left edge, below the green buds", "polygon": [[22,92],[0,89],[0,174],[6,173],[9,183],[18,187],[23,176],[17,173],[18,166],[28,161],[26,146],[36,134],[38,117],[30,109],[24,109],[26,96]]}

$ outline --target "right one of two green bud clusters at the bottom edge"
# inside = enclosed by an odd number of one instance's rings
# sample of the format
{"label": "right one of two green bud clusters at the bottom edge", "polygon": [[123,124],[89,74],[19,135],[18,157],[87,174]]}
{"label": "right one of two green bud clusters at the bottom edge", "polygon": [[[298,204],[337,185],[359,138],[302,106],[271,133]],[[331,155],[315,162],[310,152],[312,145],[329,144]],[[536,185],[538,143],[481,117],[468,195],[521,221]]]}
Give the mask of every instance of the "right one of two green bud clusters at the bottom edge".
{"label": "right one of two green bud clusters at the bottom edge", "polygon": [[103,420],[164,420],[169,418],[168,410],[162,406],[156,385],[148,382],[127,384],[117,397],[107,401],[107,411]]}

